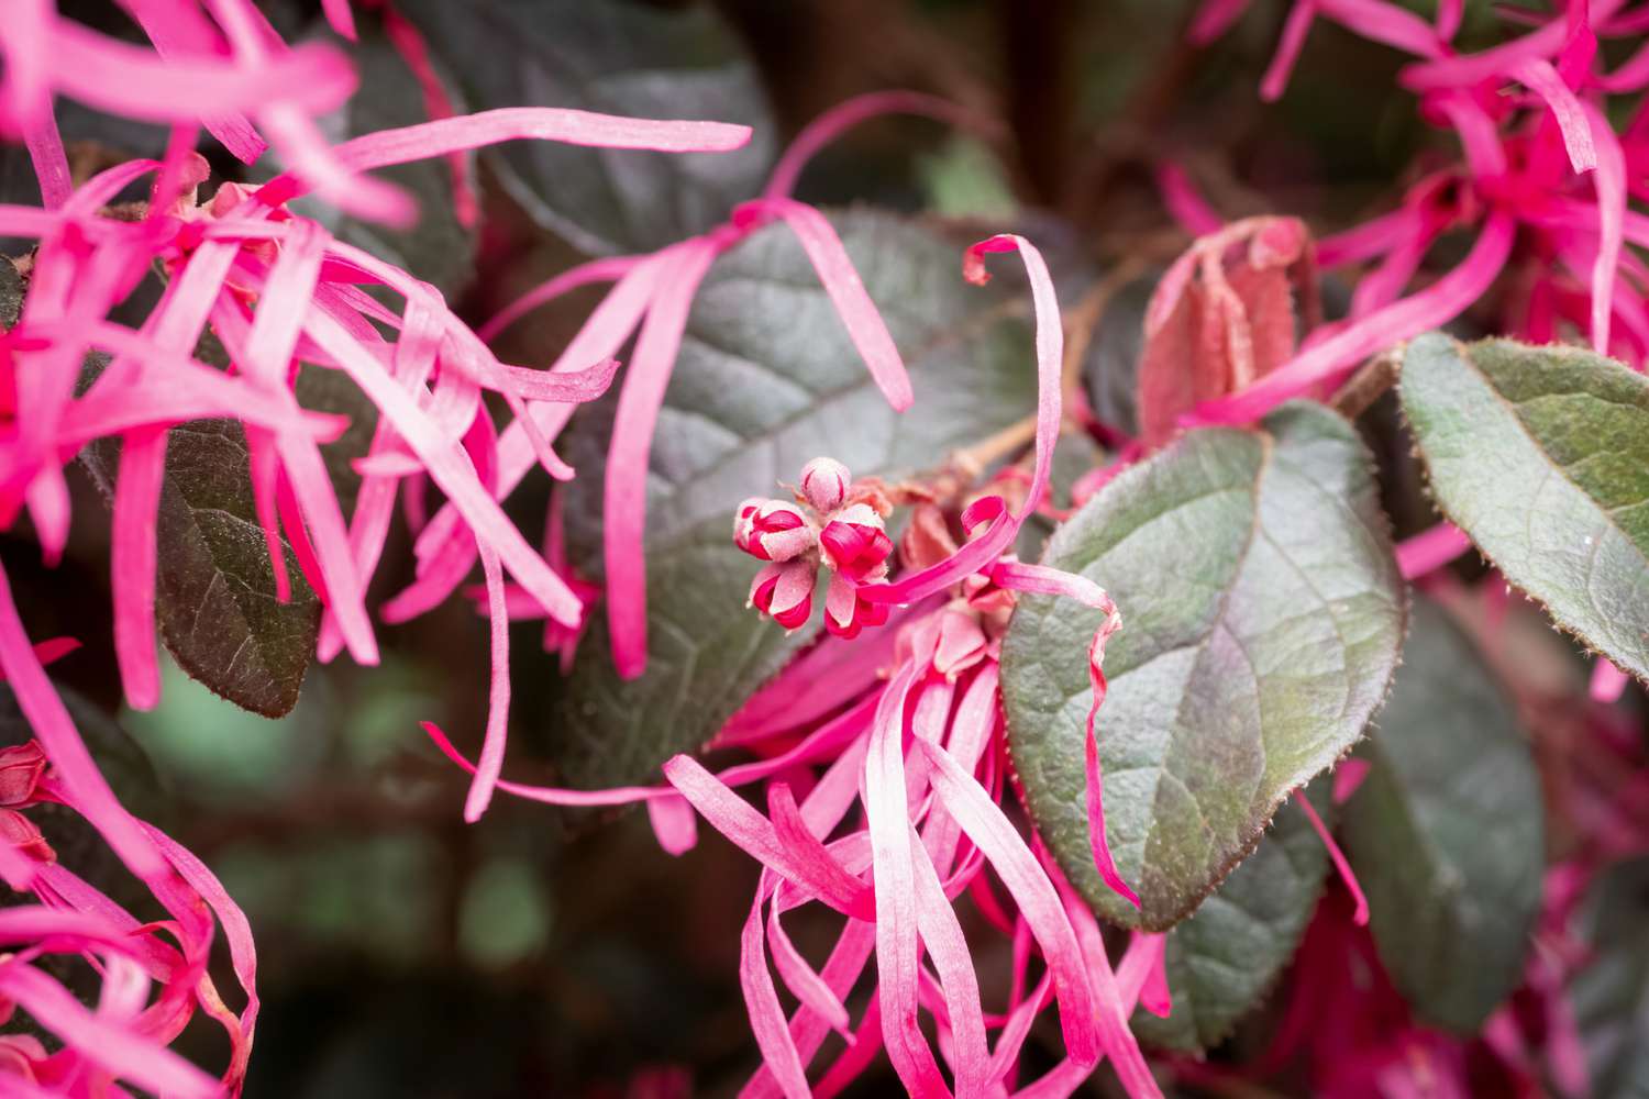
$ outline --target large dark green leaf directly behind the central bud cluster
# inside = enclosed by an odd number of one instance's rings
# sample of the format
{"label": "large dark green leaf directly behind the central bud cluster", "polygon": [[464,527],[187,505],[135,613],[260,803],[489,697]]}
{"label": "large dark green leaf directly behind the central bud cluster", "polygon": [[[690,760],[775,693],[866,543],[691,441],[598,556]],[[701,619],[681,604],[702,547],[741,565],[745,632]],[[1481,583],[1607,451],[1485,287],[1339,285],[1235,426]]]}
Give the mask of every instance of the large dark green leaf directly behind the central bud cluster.
{"label": "large dark green leaf directly behind the central bud cluster", "polygon": [[[1021,298],[966,285],[960,250],[910,222],[833,221],[899,344],[915,404],[889,409],[783,226],[717,260],[653,438],[648,671],[618,680],[597,608],[549,720],[551,751],[576,784],[645,781],[673,753],[701,748],[813,636],[816,626],[787,638],[745,610],[760,562],[732,545],[740,499],[782,491],[820,455],[859,476],[933,468],[1036,407]],[[567,486],[569,542],[590,572],[610,415],[612,400],[580,414],[564,451],[580,471]]]}

